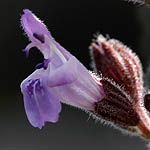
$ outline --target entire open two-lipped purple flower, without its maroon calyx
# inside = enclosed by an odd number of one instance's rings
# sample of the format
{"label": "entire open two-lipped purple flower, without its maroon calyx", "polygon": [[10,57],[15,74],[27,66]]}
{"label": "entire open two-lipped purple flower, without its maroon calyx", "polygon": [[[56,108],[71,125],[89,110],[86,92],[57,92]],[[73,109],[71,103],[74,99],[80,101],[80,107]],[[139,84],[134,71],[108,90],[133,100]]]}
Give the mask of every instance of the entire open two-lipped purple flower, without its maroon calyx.
{"label": "entire open two-lipped purple flower, without its maroon calyx", "polygon": [[46,26],[29,10],[21,24],[31,43],[26,53],[37,47],[44,61],[21,83],[27,117],[34,127],[57,122],[61,103],[94,111],[104,97],[102,85],[74,56],[59,45]]}

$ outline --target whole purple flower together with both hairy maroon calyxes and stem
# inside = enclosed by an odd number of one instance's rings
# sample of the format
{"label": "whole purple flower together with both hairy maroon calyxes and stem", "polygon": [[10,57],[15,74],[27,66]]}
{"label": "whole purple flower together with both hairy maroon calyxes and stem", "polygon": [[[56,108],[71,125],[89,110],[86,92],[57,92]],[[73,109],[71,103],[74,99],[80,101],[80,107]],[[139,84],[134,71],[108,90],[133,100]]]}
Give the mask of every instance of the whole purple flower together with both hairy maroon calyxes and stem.
{"label": "whole purple flower together with both hairy maroon calyxes and stem", "polygon": [[31,41],[27,55],[37,47],[44,56],[21,83],[25,111],[34,127],[57,122],[65,103],[150,138],[150,93],[145,93],[140,60],[128,47],[99,35],[90,46],[95,76],[54,40],[31,11],[24,10],[21,24]]}

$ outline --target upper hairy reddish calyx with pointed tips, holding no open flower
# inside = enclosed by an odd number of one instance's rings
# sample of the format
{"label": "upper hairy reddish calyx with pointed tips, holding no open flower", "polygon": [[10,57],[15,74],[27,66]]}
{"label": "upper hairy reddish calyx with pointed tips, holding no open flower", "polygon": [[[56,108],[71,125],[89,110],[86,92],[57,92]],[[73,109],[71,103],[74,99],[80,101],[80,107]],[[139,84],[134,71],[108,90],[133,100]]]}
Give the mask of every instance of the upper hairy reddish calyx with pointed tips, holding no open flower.
{"label": "upper hairy reddish calyx with pointed tips, holding no open flower", "polygon": [[91,45],[97,73],[123,85],[124,90],[137,101],[143,89],[138,57],[116,40],[106,40],[103,37],[99,40],[98,45]]}

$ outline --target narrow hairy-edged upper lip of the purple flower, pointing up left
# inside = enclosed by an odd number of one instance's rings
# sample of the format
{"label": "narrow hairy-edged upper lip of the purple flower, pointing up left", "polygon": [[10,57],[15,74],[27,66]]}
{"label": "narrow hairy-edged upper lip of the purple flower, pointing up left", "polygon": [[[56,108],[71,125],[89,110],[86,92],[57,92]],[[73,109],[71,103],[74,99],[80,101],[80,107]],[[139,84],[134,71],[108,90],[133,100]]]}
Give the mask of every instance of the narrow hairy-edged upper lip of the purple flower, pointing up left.
{"label": "narrow hairy-edged upper lip of the purple flower, pointing up left", "polygon": [[66,59],[71,56],[68,51],[66,51],[54,40],[46,28],[46,25],[40,21],[40,19],[38,19],[30,10],[24,10],[24,14],[21,16],[21,25],[23,26],[23,29],[27,33],[29,39],[32,41],[32,43],[26,47],[26,51],[36,46],[43,53],[45,59],[47,59],[49,53],[55,47]]}

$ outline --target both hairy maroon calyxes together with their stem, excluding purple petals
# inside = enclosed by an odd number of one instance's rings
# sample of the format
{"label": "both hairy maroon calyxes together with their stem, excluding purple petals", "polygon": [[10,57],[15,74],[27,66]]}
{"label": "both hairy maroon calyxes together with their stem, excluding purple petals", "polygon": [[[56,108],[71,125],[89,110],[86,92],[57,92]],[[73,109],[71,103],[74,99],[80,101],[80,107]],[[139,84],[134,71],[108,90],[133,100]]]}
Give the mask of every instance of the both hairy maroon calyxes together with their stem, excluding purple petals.
{"label": "both hairy maroon calyxes together with their stem, excluding purple petals", "polygon": [[[139,58],[121,42],[98,36],[91,45],[95,70],[105,97],[95,103],[100,118],[144,138],[150,138],[150,94],[144,95]],[[144,97],[144,98],[143,98]]]}

